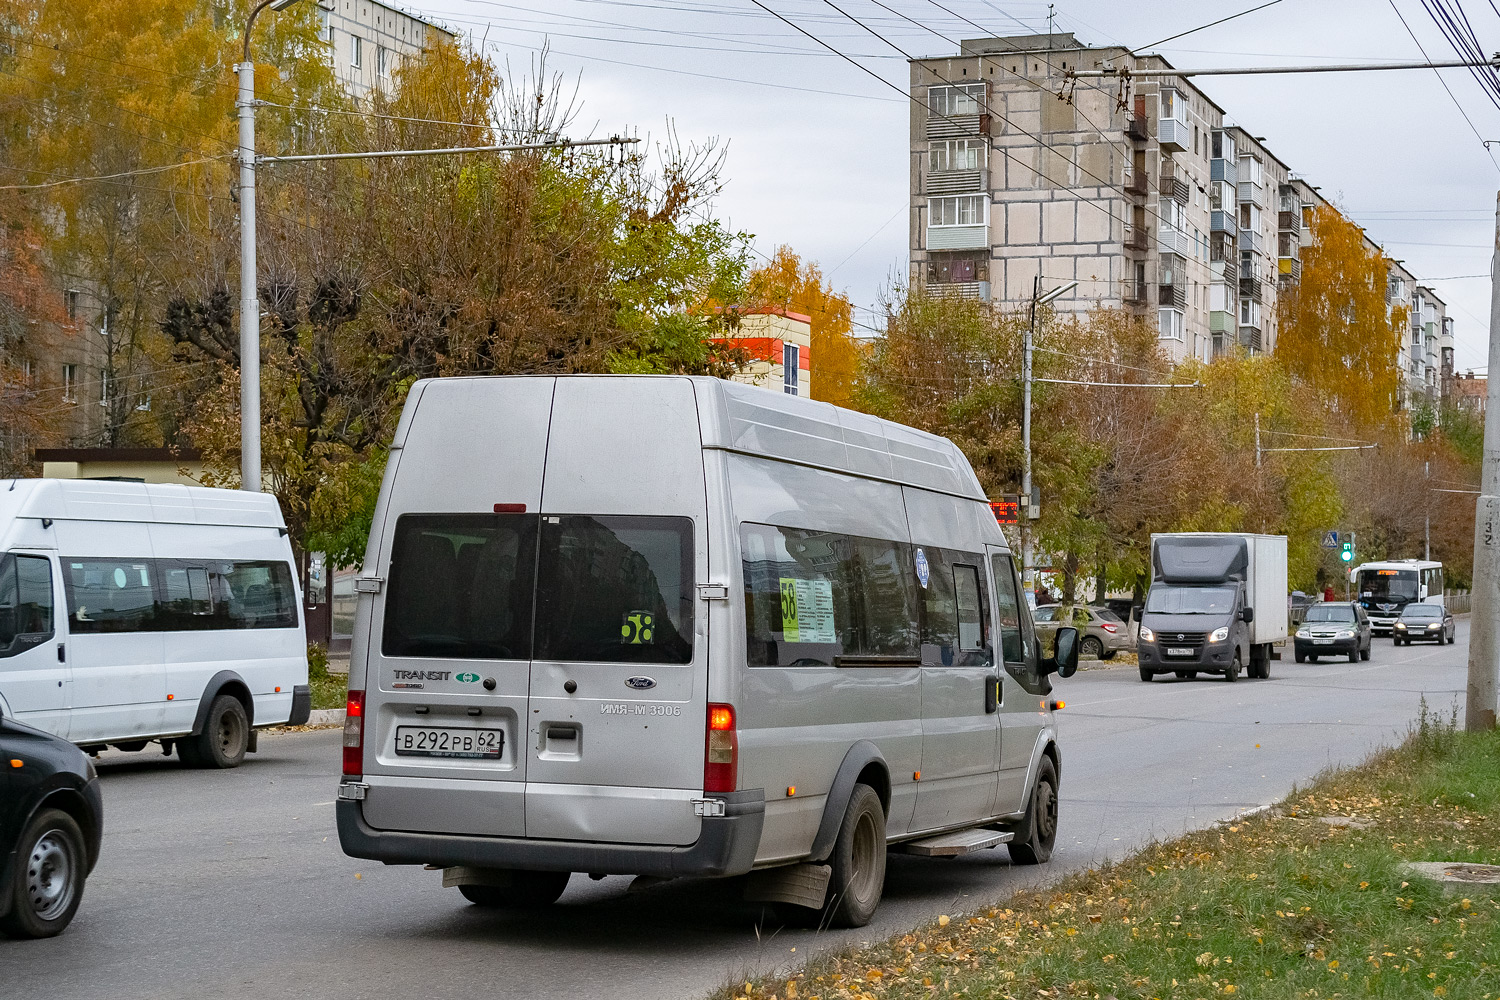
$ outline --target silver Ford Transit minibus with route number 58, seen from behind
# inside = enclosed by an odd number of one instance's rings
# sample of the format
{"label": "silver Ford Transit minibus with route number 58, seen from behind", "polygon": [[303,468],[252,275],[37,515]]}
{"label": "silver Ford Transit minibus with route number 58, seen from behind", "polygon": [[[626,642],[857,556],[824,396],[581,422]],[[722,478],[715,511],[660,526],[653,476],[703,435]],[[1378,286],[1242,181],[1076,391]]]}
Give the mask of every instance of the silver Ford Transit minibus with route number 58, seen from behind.
{"label": "silver Ford Transit minibus with route number 58, seen from behind", "polygon": [[1048,859],[1016,564],[950,441],[712,378],[417,382],[356,580],[344,850],[480,906],[740,876],[866,924],[886,850]]}

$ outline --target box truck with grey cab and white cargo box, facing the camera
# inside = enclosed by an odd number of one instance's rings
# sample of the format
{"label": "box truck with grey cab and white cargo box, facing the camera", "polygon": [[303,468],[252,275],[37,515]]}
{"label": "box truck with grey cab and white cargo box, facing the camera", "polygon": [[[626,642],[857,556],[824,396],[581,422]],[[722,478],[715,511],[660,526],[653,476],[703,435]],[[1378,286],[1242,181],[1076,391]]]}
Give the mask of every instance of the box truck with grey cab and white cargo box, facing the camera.
{"label": "box truck with grey cab and white cargo box, facing the camera", "polygon": [[1158,673],[1269,678],[1287,637],[1287,537],[1180,532],[1150,537],[1140,615],[1140,679]]}

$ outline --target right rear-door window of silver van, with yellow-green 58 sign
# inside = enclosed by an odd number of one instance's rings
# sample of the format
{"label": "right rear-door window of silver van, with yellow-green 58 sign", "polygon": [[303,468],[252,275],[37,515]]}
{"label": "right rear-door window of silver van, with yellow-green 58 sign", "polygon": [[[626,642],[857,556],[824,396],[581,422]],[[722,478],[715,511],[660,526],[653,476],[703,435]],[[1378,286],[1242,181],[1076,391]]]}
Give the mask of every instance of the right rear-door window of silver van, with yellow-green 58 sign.
{"label": "right rear-door window of silver van, with yellow-green 58 sign", "polygon": [[693,520],[543,514],[537,660],[690,663]]}

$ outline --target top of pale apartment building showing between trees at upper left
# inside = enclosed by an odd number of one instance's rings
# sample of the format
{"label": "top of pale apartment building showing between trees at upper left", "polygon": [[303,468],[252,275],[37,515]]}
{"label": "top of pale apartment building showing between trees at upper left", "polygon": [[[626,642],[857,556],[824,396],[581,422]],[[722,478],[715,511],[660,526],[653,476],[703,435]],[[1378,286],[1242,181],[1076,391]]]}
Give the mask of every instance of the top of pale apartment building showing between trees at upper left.
{"label": "top of pale apartment building showing between trees at upper left", "polygon": [[435,34],[456,37],[441,24],[378,0],[318,0],[318,7],[333,72],[356,100],[390,87],[400,60],[420,55]]}

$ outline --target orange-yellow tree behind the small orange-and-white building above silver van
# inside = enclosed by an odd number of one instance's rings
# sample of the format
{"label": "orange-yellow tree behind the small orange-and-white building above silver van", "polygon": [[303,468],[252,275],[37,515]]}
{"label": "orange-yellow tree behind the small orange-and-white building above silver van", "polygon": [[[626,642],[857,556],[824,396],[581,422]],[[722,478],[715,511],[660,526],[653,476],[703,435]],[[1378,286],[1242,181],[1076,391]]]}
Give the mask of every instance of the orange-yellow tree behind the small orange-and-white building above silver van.
{"label": "orange-yellow tree behind the small orange-and-white building above silver van", "polygon": [[762,267],[750,271],[754,306],[780,306],[812,319],[813,399],[852,406],[862,349],[854,337],[854,306],[836,292],[812,261],[778,246]]}

